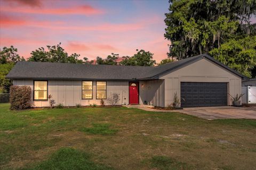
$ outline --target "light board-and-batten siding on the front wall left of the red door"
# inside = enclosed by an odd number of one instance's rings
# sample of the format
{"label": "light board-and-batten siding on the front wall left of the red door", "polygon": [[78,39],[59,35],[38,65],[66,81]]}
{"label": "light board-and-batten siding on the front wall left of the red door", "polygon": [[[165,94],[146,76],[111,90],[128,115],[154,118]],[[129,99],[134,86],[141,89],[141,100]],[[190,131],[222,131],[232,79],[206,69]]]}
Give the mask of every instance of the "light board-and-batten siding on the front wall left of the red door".
{"label": "light board-and-batten siding on the front wall left of the red door", "polygon": [[[33,80],[13,80],[13,85],[30,86],[33,90]],[[107,97],[111,94],[119,94],[120,100],[117,105],[129,103],[129,82],[128,81],[107,81]],[[82,99],[82,81],[76,80],[49,80],[48,95],[52,95],[55,105],[82,106],[100,105],[100,99],[96,99],[96,81],[93,81],[93,99]],[[31,94],[33,100],[33,92]],[[35,107],[49,107],[49,101],[34,101]],[[107,102],[105,100],[105,104]]]}

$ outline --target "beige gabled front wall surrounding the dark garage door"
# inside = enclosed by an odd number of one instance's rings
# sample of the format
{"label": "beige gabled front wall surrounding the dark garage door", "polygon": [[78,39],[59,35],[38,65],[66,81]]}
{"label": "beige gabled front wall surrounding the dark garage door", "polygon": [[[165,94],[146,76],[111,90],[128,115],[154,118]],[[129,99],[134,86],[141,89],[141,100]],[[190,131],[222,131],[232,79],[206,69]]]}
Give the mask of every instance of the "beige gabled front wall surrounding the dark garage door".
{"label": "beige gabled front wall surrounding the dark garage door", "polygon": [[[180,97],[180,82],[227,82],[231,96],[242,92],[240,77],[205,58],[174,72],[166,73],[159,79],[165,80],[165,107],[173,103],[175,92]],[[231,102],[228,96],[228,105],[231,105]]]}

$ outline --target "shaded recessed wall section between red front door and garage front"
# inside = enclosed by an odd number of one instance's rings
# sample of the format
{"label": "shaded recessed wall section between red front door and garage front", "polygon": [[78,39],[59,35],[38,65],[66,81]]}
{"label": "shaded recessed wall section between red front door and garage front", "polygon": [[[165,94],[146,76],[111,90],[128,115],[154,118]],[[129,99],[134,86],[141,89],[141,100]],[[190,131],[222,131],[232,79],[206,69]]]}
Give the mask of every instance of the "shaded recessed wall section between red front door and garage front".
{"label": "shaded recessed wall section between red front door and garage front", "polygon": [[164,86],[164,80],[140,81],[140,104],[147,101],[154,106],[164,107]]}

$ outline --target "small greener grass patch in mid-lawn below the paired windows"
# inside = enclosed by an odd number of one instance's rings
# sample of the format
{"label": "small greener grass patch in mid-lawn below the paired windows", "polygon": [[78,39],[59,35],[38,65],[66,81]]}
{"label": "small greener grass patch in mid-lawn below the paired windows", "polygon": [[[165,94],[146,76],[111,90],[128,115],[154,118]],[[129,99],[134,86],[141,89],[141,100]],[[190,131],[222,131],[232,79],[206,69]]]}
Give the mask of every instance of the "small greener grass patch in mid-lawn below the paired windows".
{"label": "small greener grass patch in mid-lawn below the paired windows", "polygon": [[90,134],[113,135],[118,132],[117,129],[110,129],[111,124],[108,123],[93,123],[91,128],[83,128],[83,132]]}

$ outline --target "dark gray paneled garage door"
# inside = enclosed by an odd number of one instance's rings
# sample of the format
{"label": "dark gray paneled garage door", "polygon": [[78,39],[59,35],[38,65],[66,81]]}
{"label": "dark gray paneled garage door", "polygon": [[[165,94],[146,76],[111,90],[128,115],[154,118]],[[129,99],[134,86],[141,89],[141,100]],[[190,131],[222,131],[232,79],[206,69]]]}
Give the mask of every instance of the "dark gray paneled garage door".
{"label": "dark gray paneled garage door", "polygon": [[[181,107],[227,106],[227,83],[181,82]],[[182,100],[185,99],[185,101]]]}

